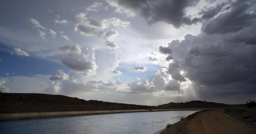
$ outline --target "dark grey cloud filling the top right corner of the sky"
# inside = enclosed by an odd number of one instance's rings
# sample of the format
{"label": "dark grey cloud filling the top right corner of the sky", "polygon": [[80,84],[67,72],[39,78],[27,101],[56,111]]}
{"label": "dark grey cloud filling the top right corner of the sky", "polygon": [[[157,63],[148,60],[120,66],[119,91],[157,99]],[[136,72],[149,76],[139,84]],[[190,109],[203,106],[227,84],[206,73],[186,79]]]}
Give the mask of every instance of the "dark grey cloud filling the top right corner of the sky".
{"label": "dark grey cloud filling the top right corner of the sky", "polygon": [[226,34],[237,32],[248,27],[255,21],[256,14],[248,13],[250,1],[240,1],[232,3],[230,11],[223,13],[206,23],[202,31],[207,34]]}

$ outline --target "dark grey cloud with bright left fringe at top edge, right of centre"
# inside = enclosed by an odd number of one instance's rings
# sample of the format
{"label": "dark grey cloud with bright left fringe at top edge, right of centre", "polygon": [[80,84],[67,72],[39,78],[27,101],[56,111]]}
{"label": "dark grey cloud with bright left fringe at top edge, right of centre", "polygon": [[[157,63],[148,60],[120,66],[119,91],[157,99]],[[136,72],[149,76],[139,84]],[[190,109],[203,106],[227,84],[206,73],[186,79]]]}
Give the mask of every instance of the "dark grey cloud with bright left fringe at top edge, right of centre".
{"label": "dark grey cloud with bright left fringe at top edge, right of centre", "polygon": [[127,17],[133,17],[140,12],[140,16],[149,25],[162,21],[179,28],[183,24],[191,25],[199,21],[198,18],[191,19],[185,13],[187,7],[197,5],[199,0],[107,0],[107,2],[116,8],[115,12],[125,14]]}

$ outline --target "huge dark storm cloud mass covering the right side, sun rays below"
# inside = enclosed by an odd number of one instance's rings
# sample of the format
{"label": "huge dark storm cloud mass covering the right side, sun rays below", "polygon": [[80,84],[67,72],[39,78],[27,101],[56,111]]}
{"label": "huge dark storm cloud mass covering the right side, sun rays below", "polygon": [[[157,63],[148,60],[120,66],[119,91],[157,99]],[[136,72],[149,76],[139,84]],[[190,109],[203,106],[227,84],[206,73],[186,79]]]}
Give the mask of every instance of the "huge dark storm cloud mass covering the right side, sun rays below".
{"label": "huge dark storm cloud mass covering the right side, sun rays below", "polygon": [[169,43],[173,63],[167,72],[180,82],[188,78],[205,97],[255,95],[256,19],[248,10],[253,6],[234,2],[230,11],[203,24],[204,33]]}

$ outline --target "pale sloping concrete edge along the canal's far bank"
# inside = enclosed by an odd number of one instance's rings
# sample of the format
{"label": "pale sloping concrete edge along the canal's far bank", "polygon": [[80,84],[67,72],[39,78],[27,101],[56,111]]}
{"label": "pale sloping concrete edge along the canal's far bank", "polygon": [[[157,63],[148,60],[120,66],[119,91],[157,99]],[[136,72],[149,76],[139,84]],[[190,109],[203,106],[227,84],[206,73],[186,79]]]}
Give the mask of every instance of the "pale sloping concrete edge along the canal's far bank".
{"label": "pale sloping concrete edge along the canal's far bank", "polygon": [[130,112],[156,112],[156,111],[177,111],[177,110],[208,110],[220,108],[187,108],[187,109],[130,109],[130,110],[94,110],[94,111],[61,111],[61,112],[29,112],[29,113],[0,113],[0,121],[18,119],[36,119],[64,116],[113,114]]}

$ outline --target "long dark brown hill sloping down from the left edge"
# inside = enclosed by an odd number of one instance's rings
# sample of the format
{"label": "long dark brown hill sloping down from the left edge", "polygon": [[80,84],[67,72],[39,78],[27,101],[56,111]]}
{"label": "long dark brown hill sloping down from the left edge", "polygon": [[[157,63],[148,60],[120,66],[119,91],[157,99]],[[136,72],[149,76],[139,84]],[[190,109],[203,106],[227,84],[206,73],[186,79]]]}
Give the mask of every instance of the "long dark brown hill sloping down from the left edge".
{"label": "long dark brown hill sloping down from the left edge", "polygon": [[0,93],[0,113],[148,109],[154,106],[83,100],[64,95]]}

